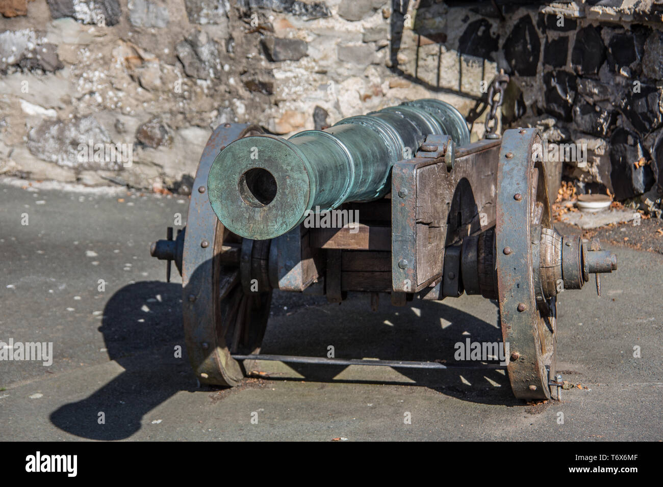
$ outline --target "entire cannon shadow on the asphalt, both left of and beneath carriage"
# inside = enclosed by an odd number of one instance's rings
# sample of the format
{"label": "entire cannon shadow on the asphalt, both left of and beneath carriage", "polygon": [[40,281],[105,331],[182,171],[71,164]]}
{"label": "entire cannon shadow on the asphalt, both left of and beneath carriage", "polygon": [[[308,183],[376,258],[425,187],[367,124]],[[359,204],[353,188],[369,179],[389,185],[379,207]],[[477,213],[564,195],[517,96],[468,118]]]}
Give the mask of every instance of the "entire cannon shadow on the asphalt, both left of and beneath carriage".
{"label": "entire cannon shadow on the asphalt, both left of and beneath carriage", "polygon": [[[218,389],[198,386],[190,368],[184,347],[181,296],[179,284],[164,282],[139,282],[116,292],[105,307],[99,331],[109,358],[123,372],[88,398],[56,409],[50,421],[62,431],[85,439],[127,439],[141,429],[146,414],[174,394]],[[389,298],[385,297],[383,303]],[[406,307],[381,304],[373,312],[368,296],[359,293],[351,294],[341,306],[310,297],[298,305],[294,301],[299,298],[292,293],[275,293],[275,313],[267,325],[263,353],[325,356],[328,345],[333,344],[337,356],[345,358],[370,356],[453,363],[454,344],[467,337],[473,341],[501,340],[495,323],[441,301],[416,300]],[[284,305],[287,311],[282,309]],[[285,316],[286,313],[293,314]],[[311,323],[313,320],[317,323]],[[182,347],[181,358],[174,354],[178,345]],[[371,378],[373,367],[365,368],[359,380],[344,380],[335,377],[345,366],[290,366],[312,382],[426,386],[470,402],[522,405],[512,397],[508,378],[497,370],[395,368],[403,380],[385,381]],[[274,376],[271,380],[280,379]],[[100,412],[104,413],[104,424],[97,421]]]}

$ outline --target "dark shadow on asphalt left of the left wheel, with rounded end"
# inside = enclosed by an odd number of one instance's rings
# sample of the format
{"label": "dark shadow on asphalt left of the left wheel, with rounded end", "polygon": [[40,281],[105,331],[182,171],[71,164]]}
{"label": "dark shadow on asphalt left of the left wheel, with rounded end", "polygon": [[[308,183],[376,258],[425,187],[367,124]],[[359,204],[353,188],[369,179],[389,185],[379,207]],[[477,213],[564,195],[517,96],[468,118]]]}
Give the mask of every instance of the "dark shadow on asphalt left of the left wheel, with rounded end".
{"label": "dark shadow on asphalt left of the left wheel, with rounded end", "polygon": [[[99,331],[110,360],[124,371],[88,398],[56,409],[50,421],[86,439],[125,439],[141,429],[145,414],[176,392],[200,390],[186,358],[181,299],[180,284],[155,281],[113,294]],[[181,347],[181,355],[175,347]]]}

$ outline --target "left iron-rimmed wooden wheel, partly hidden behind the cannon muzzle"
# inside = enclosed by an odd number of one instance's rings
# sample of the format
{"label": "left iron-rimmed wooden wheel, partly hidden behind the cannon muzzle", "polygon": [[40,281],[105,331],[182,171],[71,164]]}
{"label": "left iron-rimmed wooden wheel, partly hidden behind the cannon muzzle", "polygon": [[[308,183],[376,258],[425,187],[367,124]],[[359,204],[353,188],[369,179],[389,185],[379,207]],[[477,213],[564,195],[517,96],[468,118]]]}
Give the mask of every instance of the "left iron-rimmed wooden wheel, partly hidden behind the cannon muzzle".
{"label": "left iron-rimmed wooden wheel, partly hidden behind the cannon muzzle", "polygon": [[196,172],[182,256],[182,310],[189,359],[204,384],[237,385],[244,370],[231,354],[259,351],[269,319],[271,290],[247,292],[241,284],[241,248],[252,248],[253,242],[243,243],[223,227],[207,191],[210,166],[219,151],[237,138],[258,133],[261,129],[255,125],[221,125]]}

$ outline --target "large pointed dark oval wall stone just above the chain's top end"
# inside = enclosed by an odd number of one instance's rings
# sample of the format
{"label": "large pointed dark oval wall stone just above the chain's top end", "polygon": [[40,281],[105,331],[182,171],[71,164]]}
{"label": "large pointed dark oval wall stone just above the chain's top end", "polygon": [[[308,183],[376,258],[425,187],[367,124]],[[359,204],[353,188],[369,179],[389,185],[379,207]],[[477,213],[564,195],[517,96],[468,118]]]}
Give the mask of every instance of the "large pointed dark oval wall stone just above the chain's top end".
{"label": "large pointed dark oval wall stone just above the chain's top end", "polygon": [[536,76],[541,42],[532,23],[532,17],[529,15],[520,17],[505,41],[503,49],[514,73],[520,76]]}

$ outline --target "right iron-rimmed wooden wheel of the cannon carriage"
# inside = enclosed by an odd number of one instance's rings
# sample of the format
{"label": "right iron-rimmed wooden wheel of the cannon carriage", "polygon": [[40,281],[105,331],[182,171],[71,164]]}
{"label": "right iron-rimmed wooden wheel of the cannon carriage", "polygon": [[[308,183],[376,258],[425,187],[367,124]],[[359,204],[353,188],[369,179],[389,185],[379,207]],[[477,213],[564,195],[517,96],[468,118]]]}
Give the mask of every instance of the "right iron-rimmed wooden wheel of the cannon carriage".
{"label": "right iron-rimmed wooden wheel of the cannon carriage", "polygon": [[[495,227],[497,294],[511,388],[517,398],[548,399],[556,394],[556,299],[542,286],[554,248],[544,162],[534,156],[536,129],[505,131],[497,171]],[[558,235],[558,234],[557,234]],[[561,240],[560,243],[561,245]],[[543,249],[543,250],[541,250]],[[555,258],[552,256],[552,258]],[[542,280],[543,276],[543,280]]]}

